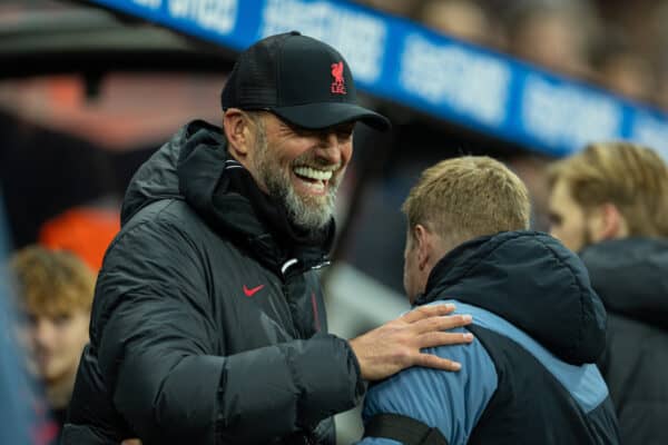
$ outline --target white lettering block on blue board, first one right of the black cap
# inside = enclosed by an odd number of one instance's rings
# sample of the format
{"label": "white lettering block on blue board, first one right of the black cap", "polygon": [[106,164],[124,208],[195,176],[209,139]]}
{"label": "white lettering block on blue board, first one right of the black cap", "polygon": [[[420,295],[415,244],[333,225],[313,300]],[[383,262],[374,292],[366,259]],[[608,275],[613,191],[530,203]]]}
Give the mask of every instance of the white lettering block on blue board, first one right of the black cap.
{"label": "white lettering block on blue board, first one right of the black cap", "polygon": [[491,126],[505,120],[510,78],[509,68],[493,57],[420,34],[406,38],[399,75],[405,91]]}

